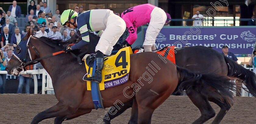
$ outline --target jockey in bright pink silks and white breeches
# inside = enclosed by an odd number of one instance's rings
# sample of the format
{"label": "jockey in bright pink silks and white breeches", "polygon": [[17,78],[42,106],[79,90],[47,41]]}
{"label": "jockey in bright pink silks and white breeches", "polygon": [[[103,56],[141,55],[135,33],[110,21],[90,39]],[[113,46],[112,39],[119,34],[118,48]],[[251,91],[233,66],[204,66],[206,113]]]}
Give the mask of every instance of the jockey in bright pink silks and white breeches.
{"label": "jockey in bright pink silks and white breeches", "polygon": [[129,31],[128,38],[122,44],[131,46],[137,39],[137,27],[149,23],[143,43],[144,51],[156,50],[155,39],[167,19],[165,11],[151,4],[142,4],[126,9],[121,17]]}

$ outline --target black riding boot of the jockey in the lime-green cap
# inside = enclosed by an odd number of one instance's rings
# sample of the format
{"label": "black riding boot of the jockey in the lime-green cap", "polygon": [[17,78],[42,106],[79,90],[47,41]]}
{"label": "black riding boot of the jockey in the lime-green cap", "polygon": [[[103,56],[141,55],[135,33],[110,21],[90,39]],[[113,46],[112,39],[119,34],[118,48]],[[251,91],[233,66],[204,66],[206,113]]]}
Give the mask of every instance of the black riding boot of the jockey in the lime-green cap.
{"label": "black riding boot of the jockey in the lime-green cap", "polygon": [[94,81],[97,83],[101,83],[102,81],[102,76],[101,76],[101,72],[103,69],[103,53],[101,53],[100,51],[96,51],[96,70],[95,70],[95,74],[92,77],[84,77],[83,80],[85,81]]}

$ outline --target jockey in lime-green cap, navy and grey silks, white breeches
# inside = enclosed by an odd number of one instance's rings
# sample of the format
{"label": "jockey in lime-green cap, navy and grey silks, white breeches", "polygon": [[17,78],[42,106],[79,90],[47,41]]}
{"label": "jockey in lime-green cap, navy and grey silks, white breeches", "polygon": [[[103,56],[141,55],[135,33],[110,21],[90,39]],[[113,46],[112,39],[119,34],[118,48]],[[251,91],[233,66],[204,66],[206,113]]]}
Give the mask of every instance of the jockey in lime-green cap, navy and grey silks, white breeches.
{"label": "jockey in lime-green cap, navy and grey silks, white breeches", "polygon": [[[81,13],[79,16],[74,10],[63,11],[60,17],[62,26],[78,28],[81,32],[82,40],[77,44],[65,47],[64,51],[81,49],[90,42],[88,31],[96,31],[101,38],[95,48],[96,70],[92,77],[84,76],[85,81],[95,81],[101,83],[101,71],[103,68],[103,56],[110,55],[113,46],[125,31],[125,22],[118,15],[109,9],[93,9]],[[104,30],[104,32],[102,31]]]}

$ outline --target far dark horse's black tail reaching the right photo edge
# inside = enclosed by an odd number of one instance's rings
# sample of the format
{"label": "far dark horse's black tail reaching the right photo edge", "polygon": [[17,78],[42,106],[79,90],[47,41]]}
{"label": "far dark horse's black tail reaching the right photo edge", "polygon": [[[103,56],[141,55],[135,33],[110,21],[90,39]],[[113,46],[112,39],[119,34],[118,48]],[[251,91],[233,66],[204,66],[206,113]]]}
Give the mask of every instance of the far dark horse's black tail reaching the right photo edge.
{"label": "far dark horse's black tail reaching the right photo edge", "polygon": [[[256,97],[256,75],[251,70],[248,70],[241,65],[237,64],[235,61],[231,60],[230,58],[224,56],[224,59],[226,63],[229,66],[229,77],[236,77],[240,80],[243,80],[242,83],[244,83],[247,87],[243,88],[247,92],[251,93],[254,97]],[[248,91],[249,90],[249,91]]]}

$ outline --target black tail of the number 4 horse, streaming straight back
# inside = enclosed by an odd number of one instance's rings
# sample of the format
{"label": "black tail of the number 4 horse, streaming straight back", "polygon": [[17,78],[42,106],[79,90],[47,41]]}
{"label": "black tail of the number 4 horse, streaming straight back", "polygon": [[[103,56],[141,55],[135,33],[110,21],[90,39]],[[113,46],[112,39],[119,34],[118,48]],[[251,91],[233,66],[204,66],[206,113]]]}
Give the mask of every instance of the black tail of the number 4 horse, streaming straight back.
{"label": "black tail of the number 4 horse, streaming straight back", "polygon": [[229,105],[233,105],[233,92],[236,91],[236,84],[230,81],[233,78],[213,73],[194,73],[178,66],[177,72],[180,75],[179,91],[189,92],[193,89],[205,96],[226,100]]}

